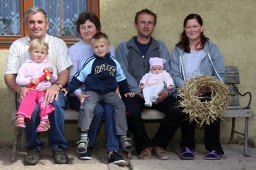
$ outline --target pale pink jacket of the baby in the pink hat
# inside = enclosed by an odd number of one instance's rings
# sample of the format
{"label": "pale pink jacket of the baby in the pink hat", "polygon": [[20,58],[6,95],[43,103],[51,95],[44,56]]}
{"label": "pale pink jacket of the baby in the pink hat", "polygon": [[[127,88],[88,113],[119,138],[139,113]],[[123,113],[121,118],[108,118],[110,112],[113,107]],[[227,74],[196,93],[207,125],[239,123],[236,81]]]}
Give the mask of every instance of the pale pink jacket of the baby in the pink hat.
{"label": "pale pink jacket of the baby in the pink hat", "polygon": [[151,71],[149,71],[140,80],[140,85],[143,84],[146,87],[157,84],[164,85],[164,82],[167,87],[169,87],[170,85],[174,85],[172,77],[170,77],[170,74],[167,73],[165,70],[160,74],[153,74],[151,73]]}

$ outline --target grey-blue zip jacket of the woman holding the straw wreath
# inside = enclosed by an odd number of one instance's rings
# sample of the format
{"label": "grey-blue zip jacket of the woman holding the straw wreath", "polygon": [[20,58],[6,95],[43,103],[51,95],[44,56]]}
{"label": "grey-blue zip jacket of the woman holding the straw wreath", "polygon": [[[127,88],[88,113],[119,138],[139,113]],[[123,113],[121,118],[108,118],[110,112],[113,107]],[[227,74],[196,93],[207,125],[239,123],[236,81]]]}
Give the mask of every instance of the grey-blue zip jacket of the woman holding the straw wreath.
{"label": "grey-blue zip jacket of the woman holding the straw wreath", "polygon": [[[203,59],[200,61],[199,73],[206,76],[214,76],[222,82],[225,81],[225,64],[220,53],[219,47],[214,45],[210,40],[206,42],[203,48]],[[180,47],[175,47],[170,58],[171,76],[176,84],[176,88],[181,88],[181,85],[186,80],[185,67],[187,65],[187,55]],[[173,93],[177,96],[177,92]]]}

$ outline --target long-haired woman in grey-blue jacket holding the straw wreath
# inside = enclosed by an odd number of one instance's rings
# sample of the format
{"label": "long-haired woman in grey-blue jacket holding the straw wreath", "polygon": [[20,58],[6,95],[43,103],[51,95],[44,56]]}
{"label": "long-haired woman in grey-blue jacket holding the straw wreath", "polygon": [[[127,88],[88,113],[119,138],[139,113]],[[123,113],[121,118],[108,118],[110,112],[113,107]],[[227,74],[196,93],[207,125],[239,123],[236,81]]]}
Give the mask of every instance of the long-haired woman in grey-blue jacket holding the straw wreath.
{"label": "long-haired woman in grey-blue jacket holding the straw wreath", "polygon": [[[203,35],[203,20],[200,15],[190,14],[184,20],[184,31],[174,48],[171,61],[171,74],[177,88],[192,77],[200,74],[214,76],[224,81],[225,65],[219,47]],[[199,89],[202,96],[210,96],[208,88]],[[177,96],[177,93],[173,95]],[[186,119],[184,114],[184,119]],[[219,120],[205,127],[205,147],[208,150],[205,159],[217,160],[222,154],[219,141]],[[189,123],[189,118],[181,121],[181,158],[194,159],[195,121]]]}

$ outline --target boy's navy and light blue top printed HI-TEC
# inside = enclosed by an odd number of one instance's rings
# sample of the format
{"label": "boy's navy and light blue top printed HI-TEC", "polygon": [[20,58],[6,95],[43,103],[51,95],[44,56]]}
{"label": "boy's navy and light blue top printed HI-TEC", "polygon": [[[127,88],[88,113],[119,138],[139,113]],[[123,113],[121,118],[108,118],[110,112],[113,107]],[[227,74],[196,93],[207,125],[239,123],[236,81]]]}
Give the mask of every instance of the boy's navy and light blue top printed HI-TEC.
{"label": "boy's navy and light blue top printed HI-TEC", "polygon": [[99,94],[115,91],[119,85],[120,93],[129,93],[129,86],[120,63],[108,53],[104,58],[91,56],[84,63],[82,69],[75,72],[66,90],[72,92],[85,83],[86,90],[93,90]]}

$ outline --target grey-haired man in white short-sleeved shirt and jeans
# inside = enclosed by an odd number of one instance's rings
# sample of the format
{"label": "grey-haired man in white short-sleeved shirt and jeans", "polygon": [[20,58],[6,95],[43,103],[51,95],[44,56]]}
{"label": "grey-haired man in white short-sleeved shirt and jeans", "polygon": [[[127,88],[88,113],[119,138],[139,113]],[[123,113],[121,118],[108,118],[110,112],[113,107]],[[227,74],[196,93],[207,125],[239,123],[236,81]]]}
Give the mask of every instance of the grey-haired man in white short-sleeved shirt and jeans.
{"label": "grey-haired man in white short-sleeved shirt and jeans", "polygon": [[[19,94],[19,100],[22,100],[28,88],[16,84],[15,78],[20,65],[29,58],[28,46],[33,39],[42,39],[48,42],[48,62],[53,67],[54,72],[58,73],[58,80],[45,89],[45,101],[48,101],[55,107],[53,114],[50,114],[50,129],[48,131],[48,144],[53,150],[55,163],[68,163],[69,159],[65,149],[67,149],[67,140],[64,138],[64,107],[66,97],[59,90],[67,84],[69,76],[69,66],[72,62],[67,55],[67,45],[59,38],[50,36],[46,33],[49,27],[49,20],[46,12],[39,7],[32,7],[26,11],[24,23],[29,30],[29,36],[16,40],[10,47],[10,53],[7,58],[7,66],[4,75],[6,85]],[[39,134],[36,129],[39,125],[39,109],[35,106],[30,121],[26,121],[25,135],[26,148],[29,150],[25,158],[25,163],[35,165],[40,160],[40,152],[44,143],[38,139]]]}

